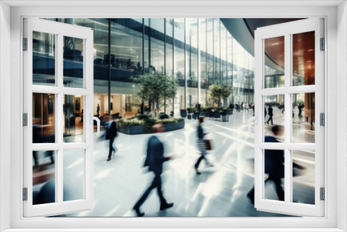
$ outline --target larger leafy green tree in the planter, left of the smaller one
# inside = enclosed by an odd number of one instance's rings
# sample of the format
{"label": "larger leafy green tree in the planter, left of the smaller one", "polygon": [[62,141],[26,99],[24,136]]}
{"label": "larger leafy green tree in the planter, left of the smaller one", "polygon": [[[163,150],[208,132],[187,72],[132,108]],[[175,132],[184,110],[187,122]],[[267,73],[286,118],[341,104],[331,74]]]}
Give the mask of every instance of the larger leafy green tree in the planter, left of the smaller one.
{"label": "larger leafy green tree in the planter, left of the smaller one", "polygon": [[[176,97],[178,84],[172,76],[164,74],[143,74],[133,76],[131,78],[135,83],[138,83],[137,95],[143,100],[152,101],[152,117],[159,115],[160,102],[164,99],[172,99]],[[155,108],[158,114],[155,115]]]}

